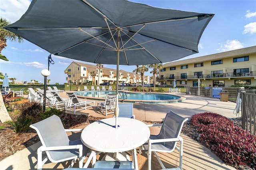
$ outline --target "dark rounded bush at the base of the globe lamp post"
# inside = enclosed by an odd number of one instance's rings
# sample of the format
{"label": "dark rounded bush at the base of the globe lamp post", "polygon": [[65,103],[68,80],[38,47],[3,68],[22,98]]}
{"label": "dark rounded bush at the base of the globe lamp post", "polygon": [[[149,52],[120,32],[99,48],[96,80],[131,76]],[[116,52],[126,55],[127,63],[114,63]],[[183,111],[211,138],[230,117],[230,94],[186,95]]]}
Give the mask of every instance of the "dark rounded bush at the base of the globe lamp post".
{"label": "dark rounded bush at the base of the globe lamp post", "polygon": [[20,118],[30,116],[33,119],[33,123],[41,121],[41,113],[43,112],[42,104],[32,101],[24,103],[20,106]]}

